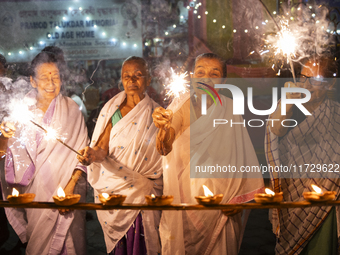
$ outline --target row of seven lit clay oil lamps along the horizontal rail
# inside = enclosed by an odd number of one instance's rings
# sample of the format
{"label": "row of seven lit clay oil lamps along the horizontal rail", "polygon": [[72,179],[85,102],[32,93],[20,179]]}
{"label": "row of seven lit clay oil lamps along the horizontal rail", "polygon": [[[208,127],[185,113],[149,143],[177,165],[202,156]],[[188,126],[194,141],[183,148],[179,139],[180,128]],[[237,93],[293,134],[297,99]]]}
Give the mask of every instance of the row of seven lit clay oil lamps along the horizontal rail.
{"label": "row of seven lit clay oil lamps along the horizontal rail", "polygon": [[[335,191],[322,191],[321,188],[312,184],[312,188],[314,191],[312,192],[304,192],[303,197],[305,200],[310,202],[320,202],[320,201],[328,201],[335,199],[336,192]],[[195,197],[197,202],[201,205],[217,205],[222,201],[223,194],[214,195],[207,186],[203,185],[204,196]],[[266,188],[266,193],[258,193],[255,194],[254,199],[258,203],[279,203],[283,199],[283,193],[274,193],[272,190]],[[7,197],[9,203],[13,204],[27,204],[31,203],[35,198],[35,194],[33,193],[24,193],[19,194],[18,190],[13,188],[12,195]],[[107,194],[101,193],[99,194],[99,200],[103,205],[121,205],[126,196],[119,194]],[[80,195],[65,195],[64,190],[59,187],[57,191],[57,196],[53,196],[53,200],[55,204],[62,206],[69,206],[79,202]],[[151,196],[145,196],[145,200],[148,205],[156,205],[156,206],[164,206],[170,205],[174,200],[173,196],[155,196],[152,194]]]}

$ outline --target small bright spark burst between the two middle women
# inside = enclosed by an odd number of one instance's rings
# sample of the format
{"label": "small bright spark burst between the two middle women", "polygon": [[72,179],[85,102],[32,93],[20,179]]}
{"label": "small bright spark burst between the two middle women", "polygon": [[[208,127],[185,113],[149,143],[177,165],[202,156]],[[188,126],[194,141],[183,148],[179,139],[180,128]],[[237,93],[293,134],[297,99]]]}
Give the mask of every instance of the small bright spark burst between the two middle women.
{"label": "small bright spark burst between the two middle women", "polygon": [[187,77],[187,72],[176,74],[171,68],[170,81],[169,84],[165,86],[165,89],[167,90],[166,95],[168,97],[179,97],[180,94],[187,92],[189,87],[188,81],[186,79]]}

